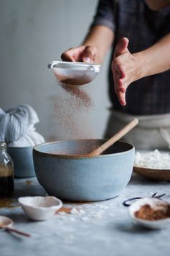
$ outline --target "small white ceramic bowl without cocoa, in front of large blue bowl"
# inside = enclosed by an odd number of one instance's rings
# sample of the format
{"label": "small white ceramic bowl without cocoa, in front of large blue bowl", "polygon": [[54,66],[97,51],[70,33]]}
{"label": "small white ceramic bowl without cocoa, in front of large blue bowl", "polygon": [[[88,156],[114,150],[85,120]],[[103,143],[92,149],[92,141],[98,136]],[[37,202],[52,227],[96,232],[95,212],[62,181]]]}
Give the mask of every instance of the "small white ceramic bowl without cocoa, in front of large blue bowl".
{"label": "small white ceramic bowl without cocoa, in front of large blue bowl", "polygon": [[18,201],[29,219],[35,221],[51,218],[62,207],[62,201],[55,196],[25,196]]}

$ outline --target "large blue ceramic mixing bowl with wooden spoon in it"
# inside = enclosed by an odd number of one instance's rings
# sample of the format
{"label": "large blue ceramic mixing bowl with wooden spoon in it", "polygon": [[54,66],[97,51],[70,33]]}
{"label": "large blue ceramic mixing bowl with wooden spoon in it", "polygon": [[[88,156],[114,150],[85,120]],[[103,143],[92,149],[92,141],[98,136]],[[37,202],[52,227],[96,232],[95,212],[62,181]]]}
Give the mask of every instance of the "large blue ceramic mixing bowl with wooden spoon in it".
{"label": "large blue ceramic mixing bowl with wooden spoon in it", "polygon": [[100,201],[118,196],[131,178],[135,149],[115,142],[97,157],[87,154],[105,140],[66,140],[37,145],[34,169],[39,183],[65,201]]}

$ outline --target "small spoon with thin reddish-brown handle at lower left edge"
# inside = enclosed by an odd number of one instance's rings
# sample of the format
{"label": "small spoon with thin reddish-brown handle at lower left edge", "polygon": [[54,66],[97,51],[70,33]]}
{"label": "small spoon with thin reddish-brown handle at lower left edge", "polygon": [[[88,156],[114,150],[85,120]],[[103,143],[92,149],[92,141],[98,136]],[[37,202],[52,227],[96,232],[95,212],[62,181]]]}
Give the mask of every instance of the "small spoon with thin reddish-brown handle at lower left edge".
{"label": "small spoon with thin reddish-brown handle at lower left edge", "polygon": [[11,228],[11,226],[13,226],[13,224],[14,224],[14,222],[11,219],[9,219],[5,216],[0,216],[0,228],[1,229],[5,229],[6,231],[9,231],[9,232],[15,232],[15,233],[21,234],[22,236],[25,236],[25,237],[31,237],[31,235],[28,233]]}

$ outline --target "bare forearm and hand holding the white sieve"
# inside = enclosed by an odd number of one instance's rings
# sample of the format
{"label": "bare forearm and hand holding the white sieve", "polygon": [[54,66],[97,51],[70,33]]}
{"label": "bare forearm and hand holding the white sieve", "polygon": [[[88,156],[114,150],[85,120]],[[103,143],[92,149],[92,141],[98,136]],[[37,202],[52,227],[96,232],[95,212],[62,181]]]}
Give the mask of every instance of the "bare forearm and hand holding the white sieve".
{"label": "bare forearm and hand holding the white sieve", "polygon": [[62,53],[62,60],[83,61],[101,64],[114,39],[114,32],[109,27],[94,25],[78,47],[72,47]]}

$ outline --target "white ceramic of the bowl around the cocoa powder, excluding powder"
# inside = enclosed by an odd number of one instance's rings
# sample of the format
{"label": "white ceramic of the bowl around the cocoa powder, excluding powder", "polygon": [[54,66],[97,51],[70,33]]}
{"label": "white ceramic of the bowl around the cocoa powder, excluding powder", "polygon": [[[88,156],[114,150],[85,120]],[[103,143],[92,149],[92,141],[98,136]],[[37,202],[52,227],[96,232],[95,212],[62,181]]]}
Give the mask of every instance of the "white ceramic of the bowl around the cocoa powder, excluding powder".
{"label": "white ceramic of the bowl around the cocoa powder, excluding powder", "polygon": [[138,211],[141,208],[141,206],[144,206],[146,204],[148,204],[149,206],[151,206],[151,208],[156,210],[156,209],[162,209],[162,207],[166,206],[169,203],[156,198],[138,199],[136,202],[134,202],[133,204],[131,204],[131,206],[128,207],[128,212],[133,222],[140,224],[143,227],[147,227],[149,229],[161,229],[168,226],[170,227],[170,218],[159,219],[156,221],[149,221],[149,220],[137,218],[135,216],[136,211]]}

